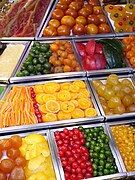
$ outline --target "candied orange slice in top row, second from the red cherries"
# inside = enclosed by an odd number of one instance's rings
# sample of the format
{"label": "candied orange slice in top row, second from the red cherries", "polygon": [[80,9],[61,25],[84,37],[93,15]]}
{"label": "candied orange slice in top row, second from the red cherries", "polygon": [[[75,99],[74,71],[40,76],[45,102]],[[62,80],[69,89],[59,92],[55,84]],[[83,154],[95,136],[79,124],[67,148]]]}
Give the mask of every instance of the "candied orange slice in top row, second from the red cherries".
{"label": "candied orange slice in top row, second from the red cherries", "polygon": [[56,82],[49,82],[43,85],[43,90],[47,94],[53,94],[59,90],[59,84]]}

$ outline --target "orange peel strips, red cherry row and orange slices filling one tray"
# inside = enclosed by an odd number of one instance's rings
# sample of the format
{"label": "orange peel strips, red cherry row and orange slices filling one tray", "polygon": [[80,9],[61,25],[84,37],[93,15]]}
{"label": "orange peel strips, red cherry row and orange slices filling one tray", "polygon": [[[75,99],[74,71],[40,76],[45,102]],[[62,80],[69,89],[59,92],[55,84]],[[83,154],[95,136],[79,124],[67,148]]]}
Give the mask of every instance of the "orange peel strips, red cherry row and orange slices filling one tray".
{"label": "orange peel strips, red cherry row and orange slices filling one tray", "polygon": [[0,105],[1,128],[94,116],[91,94],[79,79],[13,86]]}

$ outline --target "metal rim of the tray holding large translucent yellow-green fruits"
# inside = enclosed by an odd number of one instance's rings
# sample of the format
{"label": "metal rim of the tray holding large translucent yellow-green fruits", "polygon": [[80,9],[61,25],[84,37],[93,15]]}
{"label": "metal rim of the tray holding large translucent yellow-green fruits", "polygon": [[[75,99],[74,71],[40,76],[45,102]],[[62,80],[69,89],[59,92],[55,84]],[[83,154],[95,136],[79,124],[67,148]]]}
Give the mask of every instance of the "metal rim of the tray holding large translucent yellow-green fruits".
{"label": "metal rim of the tray holding large translucent yellow-green fruits", "polygon": [[[96,77],[96,78],[88,78],[88,82],[90,84],[90,87],[92,88],[92,91],[93,91],[93,94],[95,96],[95,99],[97,101],[97,104],[99,106],[99,109],[101,111],[101,114],[102,116],[105,117],[105,121],[112,121],[112,120],[123,120],[124,118],[126,119],[129,119],[129,118],[134,118],[135,117],[135,112],[130,112],[130,113],[124,113],[124,114],[113,114],[113,115],[106,115],[103,108],[102,108],[102,105],[100,103],[100,100],[98,98],[98,94],[96,93],[96,90],[93,86],[93,83],[92,83],[92,80],[101,80],[103,83],[106,82],[106,77]],[[133,75],[132,74],[129,74],[129,75],[121,75],[121,76],[118,76],[119,77],[119,80],[121,81],[123,78],[127,78],[129,79],[133,85],[135,86],[135,81],[134,81],[134,78],[133,78]]]}

